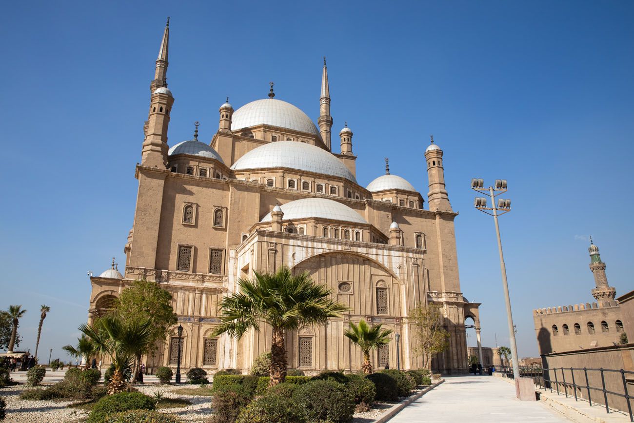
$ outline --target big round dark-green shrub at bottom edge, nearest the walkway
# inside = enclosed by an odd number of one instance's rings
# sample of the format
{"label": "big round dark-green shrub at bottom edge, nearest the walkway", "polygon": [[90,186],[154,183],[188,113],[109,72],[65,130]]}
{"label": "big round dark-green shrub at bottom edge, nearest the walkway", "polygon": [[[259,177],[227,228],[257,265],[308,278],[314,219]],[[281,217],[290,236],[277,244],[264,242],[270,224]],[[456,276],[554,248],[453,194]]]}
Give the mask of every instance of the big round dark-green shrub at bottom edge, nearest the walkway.
{"label": "big round dark-green shrub at bottom edge, nearest the walkway", "polygon": [[297,388],[293,399],[306,409],[311,423],[347,423],[353,418],[353,394],[335,381],[310,381]]}

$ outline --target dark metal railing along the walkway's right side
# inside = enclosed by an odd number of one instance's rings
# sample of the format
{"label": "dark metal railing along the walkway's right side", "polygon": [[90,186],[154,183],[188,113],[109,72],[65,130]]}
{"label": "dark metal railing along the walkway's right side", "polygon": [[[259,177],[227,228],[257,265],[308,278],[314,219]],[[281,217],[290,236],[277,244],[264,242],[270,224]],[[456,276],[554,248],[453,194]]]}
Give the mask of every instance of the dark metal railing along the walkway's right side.
{"label": "dark metal railing along the walkway's right side", "polygon": [[[505,377],[513,379],[512,368],[501,368],[500,371]],[[520,368],[523,377],[531,377],[536,386],[544,391],[553,389],[557,395],[564,394],[566,398],[573,397],[575,401],[588,401],[592,405],[604,405],[605,412],[611,413],[614,410],[627,412],[630,415],[630,422],[634,422],[632,415],[632,403],[634,399],[630,395],[628,385],[634,384],[634,372],[629,370],[615,370],[612,368],[576,368],[576,367],[553,367],[553,368]],[[589,374],[589,376],[588,376]],[[576,375],[576,377],[575,377]],[[606,387],[606,377],[609,379],[608,387],[619,391],[615,392]],[[554,380],[553,380],[554,379]],[[600,386],[598,380],[600,379]],[[595,394],[594,397],[592,394]],[[610,404],[610,398],[612,405]],[[623,400],[619,401],[620,398]],[[610,409],[612,407],[612,411]]]}

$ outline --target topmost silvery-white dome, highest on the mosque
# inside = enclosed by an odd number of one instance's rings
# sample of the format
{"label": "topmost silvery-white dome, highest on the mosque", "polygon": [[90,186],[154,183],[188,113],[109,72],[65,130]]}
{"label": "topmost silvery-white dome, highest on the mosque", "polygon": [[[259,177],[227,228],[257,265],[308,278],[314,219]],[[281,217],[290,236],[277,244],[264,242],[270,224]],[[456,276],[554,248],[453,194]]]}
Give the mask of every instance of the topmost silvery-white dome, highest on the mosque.
{"label": "topmost silvery-white dome, highest on the mosque", "polygon": [[275,98],[251,101],[238,108],[231,117],[231,131],[262,124],[320,135],[313,120],[304,112]]}

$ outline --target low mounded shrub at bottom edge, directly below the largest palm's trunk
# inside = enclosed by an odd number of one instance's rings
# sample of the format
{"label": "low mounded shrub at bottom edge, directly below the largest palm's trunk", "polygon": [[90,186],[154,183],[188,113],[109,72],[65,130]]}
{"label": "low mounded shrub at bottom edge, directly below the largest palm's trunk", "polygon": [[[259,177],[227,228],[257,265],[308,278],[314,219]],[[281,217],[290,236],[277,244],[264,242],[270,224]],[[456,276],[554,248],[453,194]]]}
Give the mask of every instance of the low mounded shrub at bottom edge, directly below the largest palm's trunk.
{"label": "low mounded shrub at bottom edge, directly below the largest palm's trunk", "polygon": [[[296,385],[279,384],[277,386]],[[276,386],[276,387],[277,387]],[[236,423],[306,423],[306,412],[288,396],[267,394],[252,401],[240,412]]]}

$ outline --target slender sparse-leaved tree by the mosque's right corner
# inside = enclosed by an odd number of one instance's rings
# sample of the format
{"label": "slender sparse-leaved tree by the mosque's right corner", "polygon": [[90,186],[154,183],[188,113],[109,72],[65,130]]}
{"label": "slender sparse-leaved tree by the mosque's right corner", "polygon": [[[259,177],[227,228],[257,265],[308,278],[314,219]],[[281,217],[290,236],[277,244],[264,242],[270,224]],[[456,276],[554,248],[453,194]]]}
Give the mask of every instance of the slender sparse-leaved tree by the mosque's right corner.
{"label": "slender sparse-leaved tree by the mosque's right corner", "polygon": [[422,355],[423,367],[431,372],[432,357],[449,346],[449,332],[443,329],[443,312],[436,304],[418,303],[410,310],[409,319],[417,342],[413,349]]}

